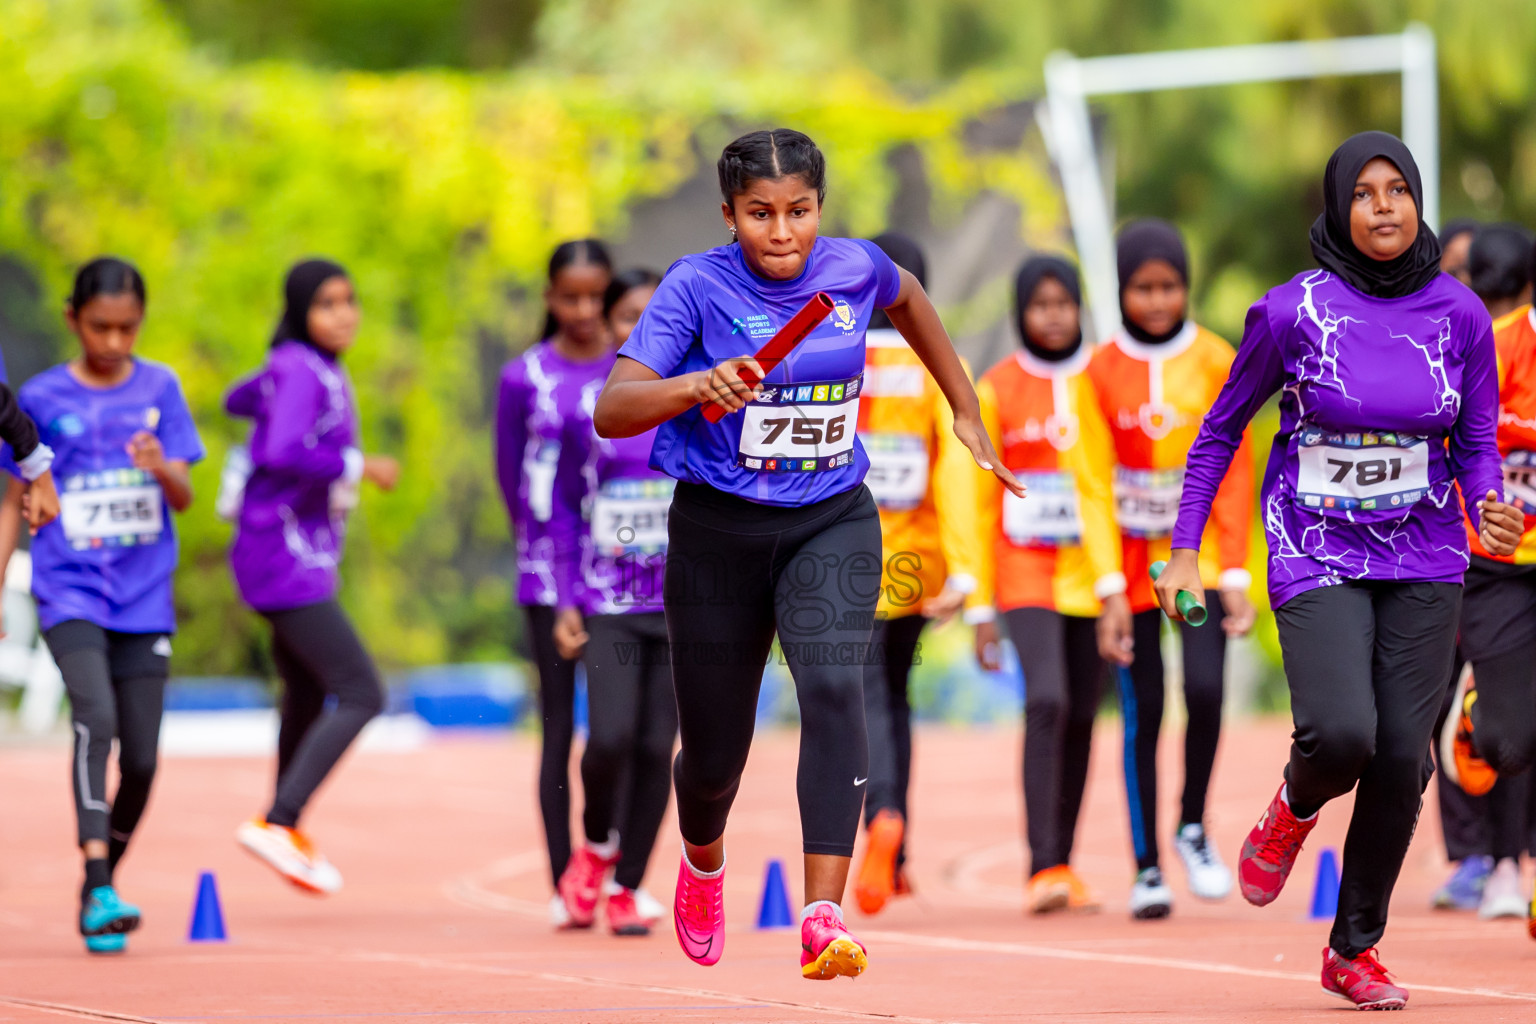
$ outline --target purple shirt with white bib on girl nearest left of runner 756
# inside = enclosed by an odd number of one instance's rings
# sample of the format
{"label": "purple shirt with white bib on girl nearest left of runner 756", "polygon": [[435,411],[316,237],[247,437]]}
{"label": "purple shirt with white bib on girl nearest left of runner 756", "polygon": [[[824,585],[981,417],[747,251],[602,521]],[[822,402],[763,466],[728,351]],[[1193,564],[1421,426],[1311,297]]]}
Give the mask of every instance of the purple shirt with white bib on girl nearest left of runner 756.
{"label": "purple shirt with white bib on girl nearest left of runner 756", "polygon": [[596,434],[591,410],[599,390],[584,393],[564,442],[588,450],[574,603],[584,616],[664,611],[667,516],[676,481],[650,467],[656,430],[634,438]]}

